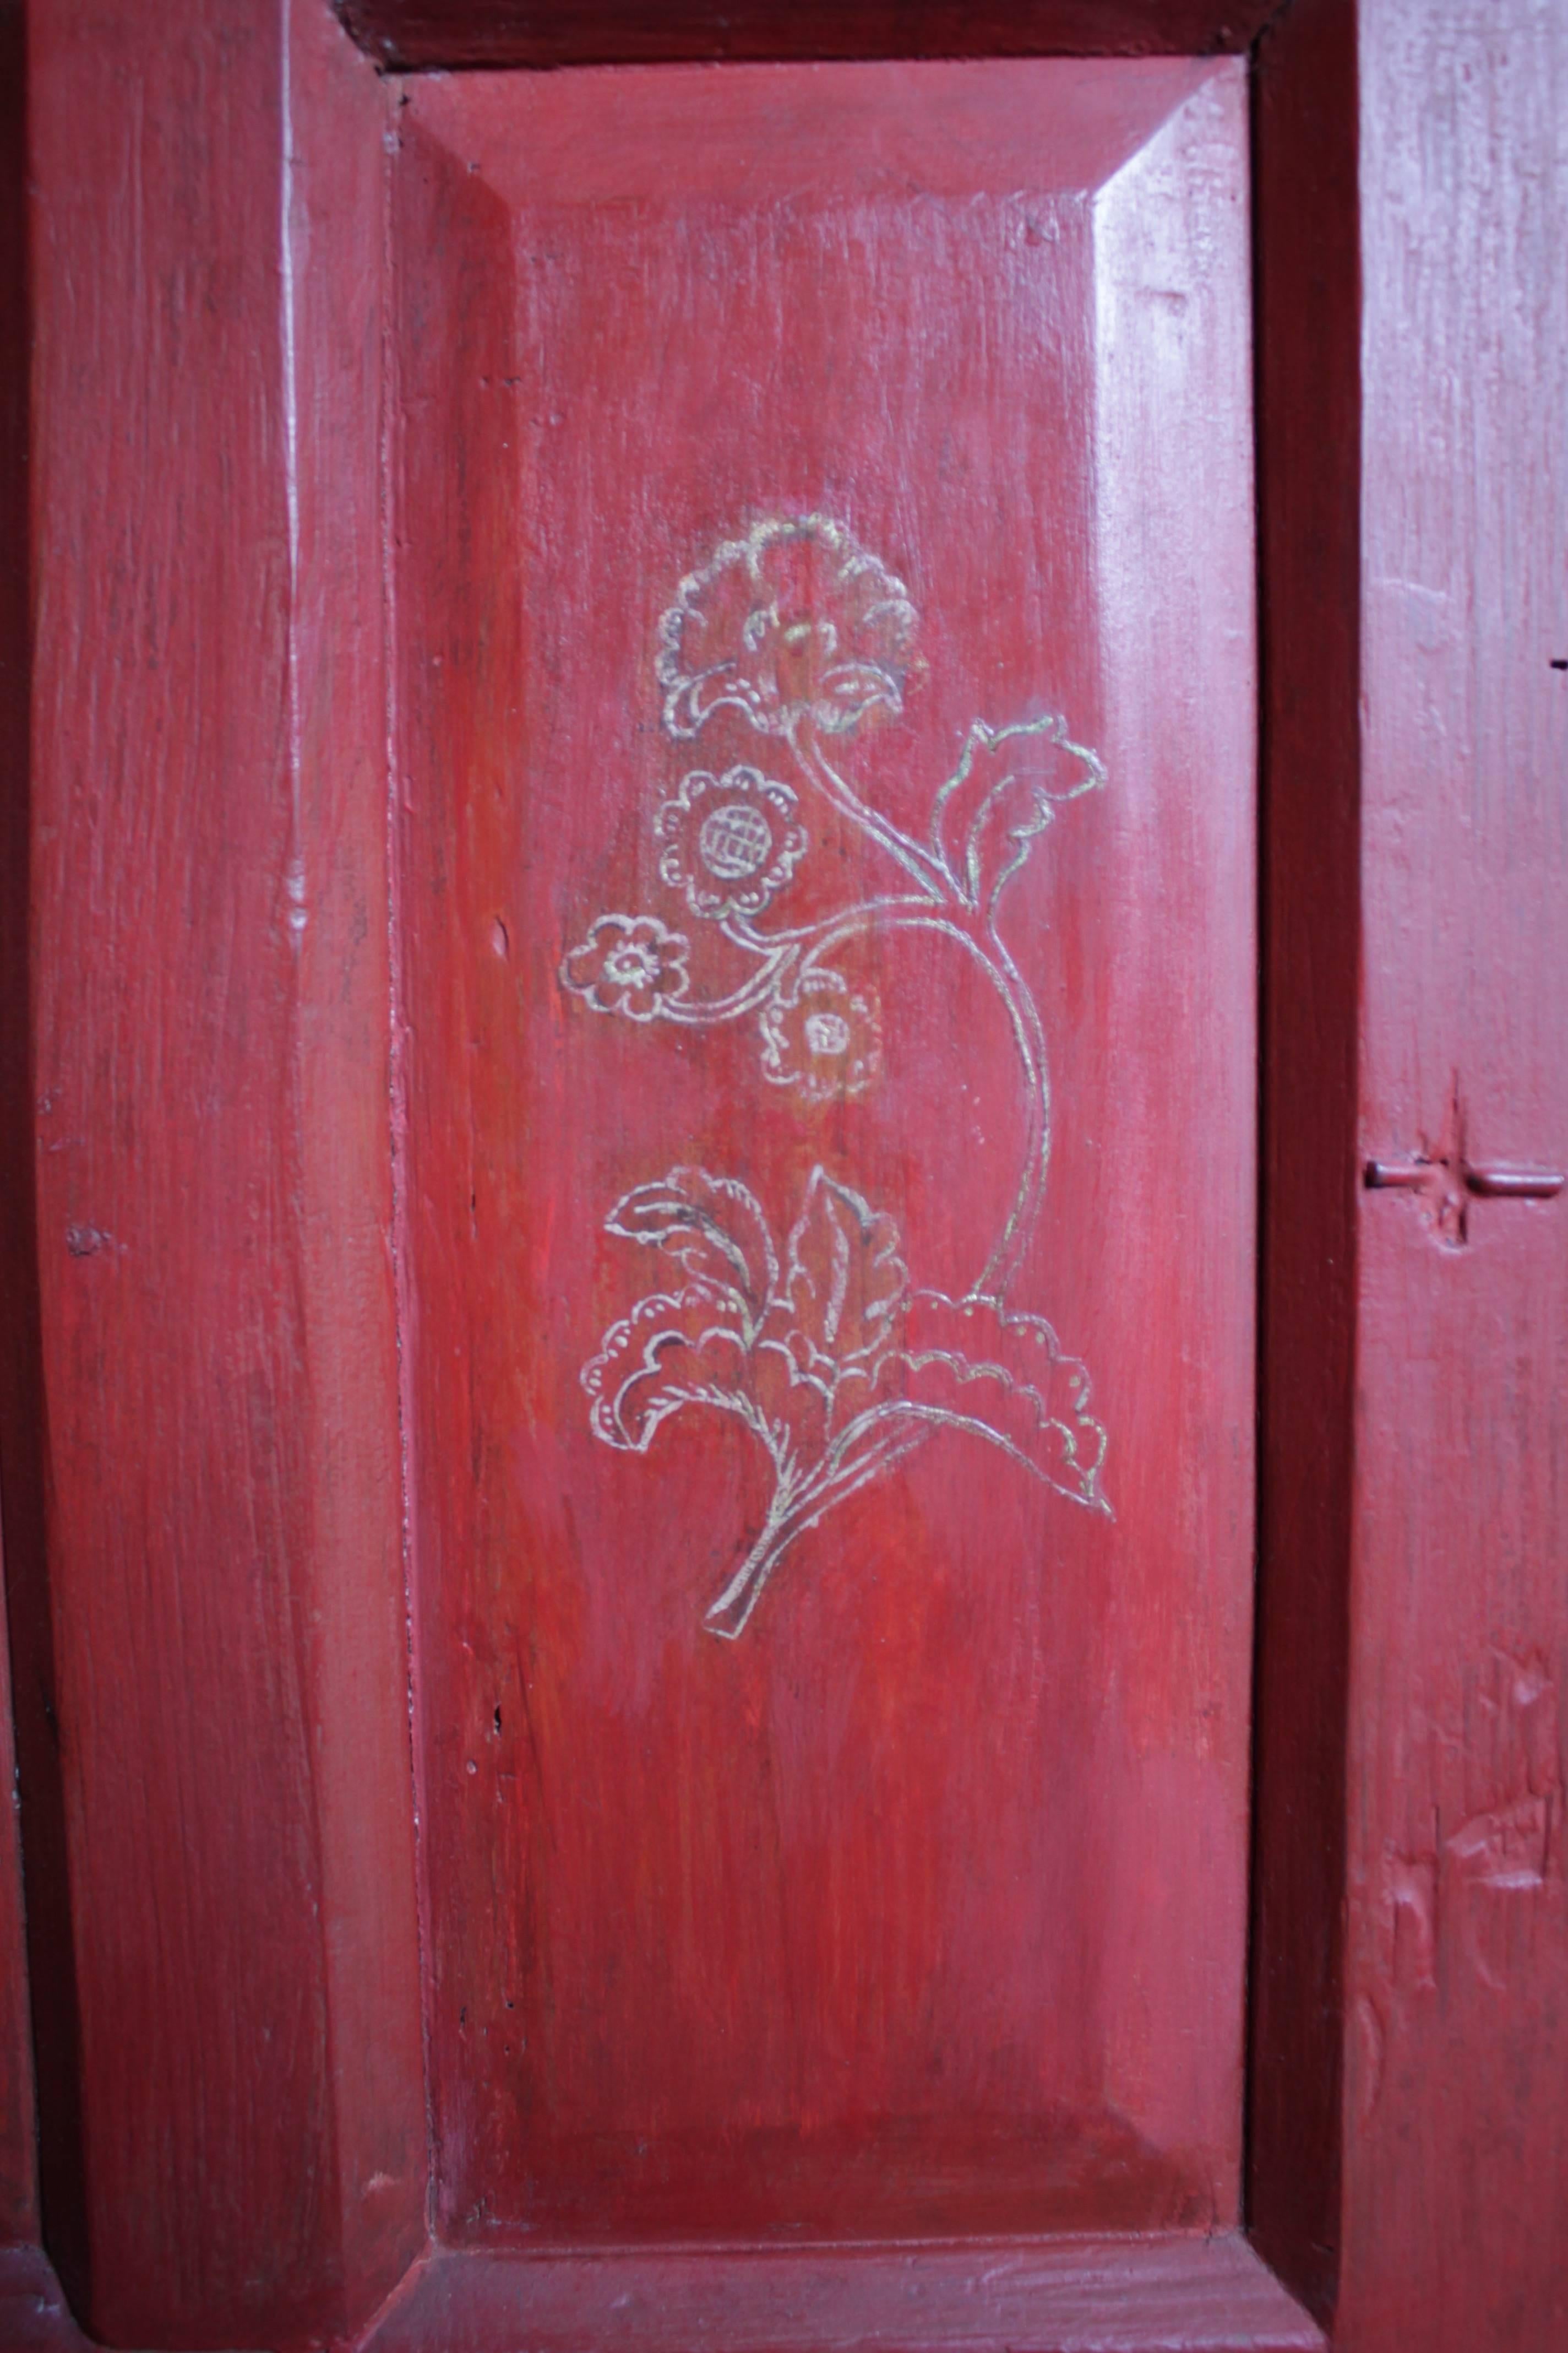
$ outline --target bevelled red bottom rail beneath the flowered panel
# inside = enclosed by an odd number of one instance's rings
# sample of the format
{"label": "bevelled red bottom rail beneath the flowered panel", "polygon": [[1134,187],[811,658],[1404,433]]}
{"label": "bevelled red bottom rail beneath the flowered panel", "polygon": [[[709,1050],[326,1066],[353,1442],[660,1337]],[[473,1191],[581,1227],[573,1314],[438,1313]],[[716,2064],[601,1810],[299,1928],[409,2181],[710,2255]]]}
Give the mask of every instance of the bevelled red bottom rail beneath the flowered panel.
{"label": "bevelled red bottom rail beneath the flowered panel", "polygon": [[367,2353],[1309,2353],[1319,2329],[1237,2235],[827,2254],[437,2254]]}

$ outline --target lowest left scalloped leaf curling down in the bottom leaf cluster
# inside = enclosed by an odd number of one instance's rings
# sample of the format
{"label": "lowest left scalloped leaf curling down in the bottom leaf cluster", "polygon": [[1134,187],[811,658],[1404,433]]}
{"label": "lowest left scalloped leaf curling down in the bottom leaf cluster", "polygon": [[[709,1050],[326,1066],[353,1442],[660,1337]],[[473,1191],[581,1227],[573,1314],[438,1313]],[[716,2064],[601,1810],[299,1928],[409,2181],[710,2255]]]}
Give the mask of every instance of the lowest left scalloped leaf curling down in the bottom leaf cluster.
{"label": "lowest left scalloped leaf curling down in the bottom leaf cluster", "polygon": [[639,1299],[583,1365],[583,1388],[595,1438],[635,1454],[646,1454],[658,1424],[682,1405],[717,1405],[757,1426],[733,1292],[689,1282],[684,1292]]}

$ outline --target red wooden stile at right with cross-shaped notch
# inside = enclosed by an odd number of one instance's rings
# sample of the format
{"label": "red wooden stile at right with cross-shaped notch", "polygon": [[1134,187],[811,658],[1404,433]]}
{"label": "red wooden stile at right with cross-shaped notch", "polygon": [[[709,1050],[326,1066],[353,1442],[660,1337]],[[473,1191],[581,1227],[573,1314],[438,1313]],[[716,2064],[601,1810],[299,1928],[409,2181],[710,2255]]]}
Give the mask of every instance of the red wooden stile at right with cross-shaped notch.
{"label": "red wooden stile at right with cross-shaped notch", "polygon": [[[1361,1160],[1568,1162],[1568,16],[1366,0]],[[1568,1202],[1363,1191],[1347,2353],[1568,2341]]]}

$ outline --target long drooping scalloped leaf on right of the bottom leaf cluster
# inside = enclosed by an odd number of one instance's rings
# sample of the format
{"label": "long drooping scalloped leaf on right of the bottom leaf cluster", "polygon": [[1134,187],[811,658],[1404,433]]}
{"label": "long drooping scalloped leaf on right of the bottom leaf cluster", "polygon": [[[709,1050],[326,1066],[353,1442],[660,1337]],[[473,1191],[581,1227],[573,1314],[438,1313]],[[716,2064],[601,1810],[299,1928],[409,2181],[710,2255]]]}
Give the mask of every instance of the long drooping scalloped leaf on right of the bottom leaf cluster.
{"label": "long drooping scalloped leaf on right of the bottom leaf cluster", "polygon": [[914,1292],[903,1346],[877,1367],[860,1421],[917,1417],[990,1438],[1074,1504],[1110,1511],[1100,1492],[1105,1431],[1088,1412],[1088,1374],[1063,1355],[1041,1315],[994,1299]]}

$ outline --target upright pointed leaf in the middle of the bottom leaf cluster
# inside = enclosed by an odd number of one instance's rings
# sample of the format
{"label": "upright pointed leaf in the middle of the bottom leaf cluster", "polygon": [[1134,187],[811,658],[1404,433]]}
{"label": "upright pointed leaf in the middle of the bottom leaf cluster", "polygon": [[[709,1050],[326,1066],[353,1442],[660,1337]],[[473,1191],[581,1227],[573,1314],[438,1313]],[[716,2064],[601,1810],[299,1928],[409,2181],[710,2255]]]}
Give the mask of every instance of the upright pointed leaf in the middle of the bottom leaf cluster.
{"label": "upright pointed leaf in the middle of the bottom leaf cluster", "polygon": [[773,1311],[799,1372],[830,1388],[844,1367],[891,1348],[907,1280],[893,1219],[823,1167],[811,1169]]}

